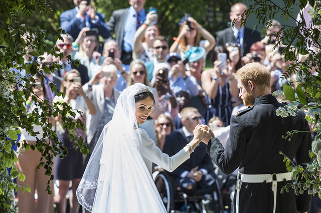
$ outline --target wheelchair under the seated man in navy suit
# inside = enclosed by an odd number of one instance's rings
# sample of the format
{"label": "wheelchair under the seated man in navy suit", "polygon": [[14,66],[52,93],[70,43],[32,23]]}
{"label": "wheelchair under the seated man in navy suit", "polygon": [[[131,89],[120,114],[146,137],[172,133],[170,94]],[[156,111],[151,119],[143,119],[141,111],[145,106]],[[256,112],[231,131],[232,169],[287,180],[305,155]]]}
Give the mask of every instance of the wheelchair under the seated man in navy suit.
{"label": "wheelchair under the seated man in navy suit", "polygon": [[216,179],[213,186],[193,192],[176,187],[173,177],[166,171],[155,171],[153,179],[168,213],[174,213],[176,210],[187,213],[223,212],[220,187]]}

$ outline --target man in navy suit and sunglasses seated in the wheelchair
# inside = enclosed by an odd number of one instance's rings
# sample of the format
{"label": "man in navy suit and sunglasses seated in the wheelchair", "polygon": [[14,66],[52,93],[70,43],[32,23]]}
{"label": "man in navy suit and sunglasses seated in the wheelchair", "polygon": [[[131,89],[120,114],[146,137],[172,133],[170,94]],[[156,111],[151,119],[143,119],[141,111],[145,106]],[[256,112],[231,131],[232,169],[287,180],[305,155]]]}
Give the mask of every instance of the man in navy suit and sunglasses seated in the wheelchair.
{"label": "man in navy suit and sunglasses seated in the wheelchair", "polygon": [[[173,156],[193,139],[194,128],[202,123],[199,111],[185,107],[181,111],[183,128],[166,136],[163,152]],[[208,188],[215,183],[212,159],[206,154],[206,145],[200,143],[190,159],[170,173],[177,184],[188,190]]]}

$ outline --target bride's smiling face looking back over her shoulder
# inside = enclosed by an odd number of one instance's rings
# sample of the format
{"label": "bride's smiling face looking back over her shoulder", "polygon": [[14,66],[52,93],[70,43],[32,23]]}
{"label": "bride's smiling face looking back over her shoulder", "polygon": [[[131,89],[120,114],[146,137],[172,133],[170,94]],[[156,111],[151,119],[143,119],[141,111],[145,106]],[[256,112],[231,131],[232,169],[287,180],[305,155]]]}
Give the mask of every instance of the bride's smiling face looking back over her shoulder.
{"label": "bride's smiling face looking back over her shoulder", "polygon": [[138,124],[145,123],[152,106],[153,100],[150,96],[135,103],[135,116]]}

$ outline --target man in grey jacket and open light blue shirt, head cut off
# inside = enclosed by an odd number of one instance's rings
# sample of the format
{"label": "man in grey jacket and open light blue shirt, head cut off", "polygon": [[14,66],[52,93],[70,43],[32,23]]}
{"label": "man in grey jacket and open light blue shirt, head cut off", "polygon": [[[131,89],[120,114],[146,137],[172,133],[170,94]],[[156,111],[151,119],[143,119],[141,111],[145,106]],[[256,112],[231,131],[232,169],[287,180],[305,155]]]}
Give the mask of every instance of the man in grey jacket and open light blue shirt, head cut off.
{"label": "man in grey jacket and open light blue shirt, head cut off", "polygon": [[128,0],[130,7],[116,10],[107,23],[109,31],[113,31],[121,51],[123,64],[132,61],[132,42],[136,30],[146,20],[144,5],[146,0]]}

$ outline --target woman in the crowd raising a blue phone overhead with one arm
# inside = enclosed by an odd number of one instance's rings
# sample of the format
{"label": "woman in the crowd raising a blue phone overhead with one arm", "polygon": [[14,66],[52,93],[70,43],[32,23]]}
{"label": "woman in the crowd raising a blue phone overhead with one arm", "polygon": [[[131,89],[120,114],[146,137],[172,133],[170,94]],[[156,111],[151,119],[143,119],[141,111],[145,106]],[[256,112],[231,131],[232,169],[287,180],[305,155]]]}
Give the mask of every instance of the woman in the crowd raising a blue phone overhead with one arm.
{"label": "woman in the crowd raising a blue phone overhead with one arm", "polygon": [[153,61],[155,55],[152,52],[155,38],[160,35],[157,23],[156,9],[150,8],[146,15],[146,21],[135,33],[133,40],[133,59],[140,59],[144,63]]}

